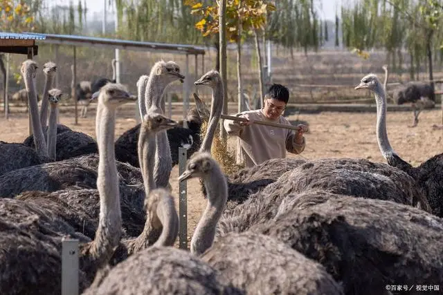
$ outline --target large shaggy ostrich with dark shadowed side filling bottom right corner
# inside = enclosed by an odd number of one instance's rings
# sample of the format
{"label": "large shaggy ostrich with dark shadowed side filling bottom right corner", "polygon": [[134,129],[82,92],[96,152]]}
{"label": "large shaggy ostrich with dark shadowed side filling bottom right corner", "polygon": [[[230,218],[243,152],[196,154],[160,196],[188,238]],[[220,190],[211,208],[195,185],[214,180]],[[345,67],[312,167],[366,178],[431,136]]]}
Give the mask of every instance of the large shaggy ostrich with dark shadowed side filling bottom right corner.
{"label": "large shaggy ostrich with dark shadowed side filling bottom right corner", "polygon": [[386,285],[428,285],[443,277],[443,222],[430,213],[315,190],[285,201],[278,216],[250,231],[318,261],[345,294],[383,294]]}

